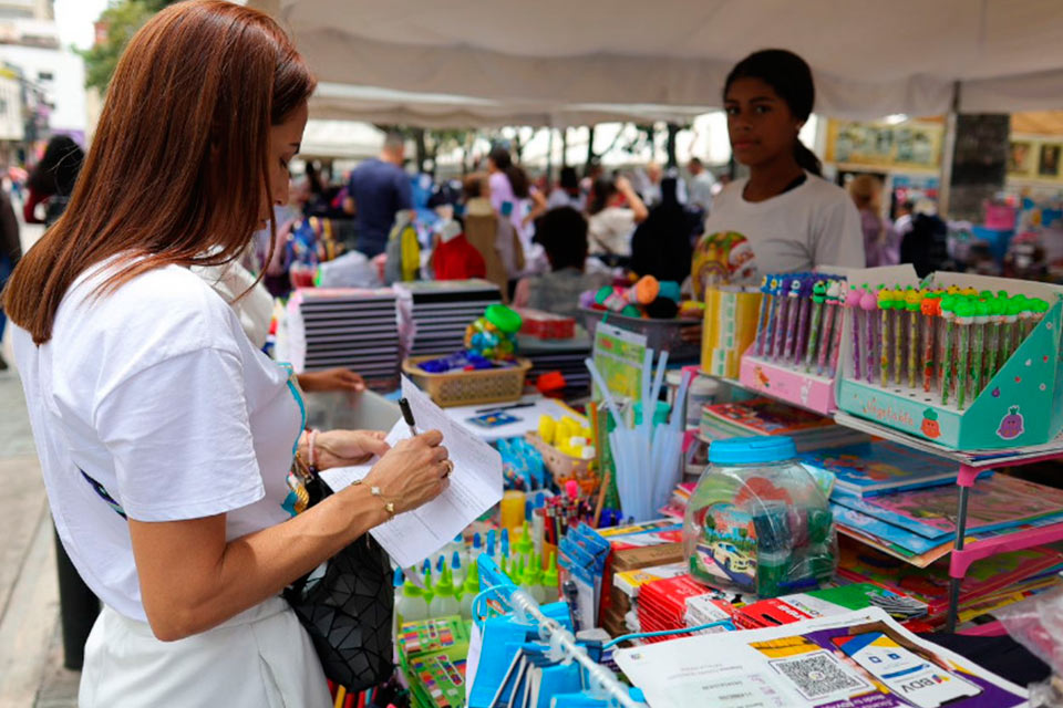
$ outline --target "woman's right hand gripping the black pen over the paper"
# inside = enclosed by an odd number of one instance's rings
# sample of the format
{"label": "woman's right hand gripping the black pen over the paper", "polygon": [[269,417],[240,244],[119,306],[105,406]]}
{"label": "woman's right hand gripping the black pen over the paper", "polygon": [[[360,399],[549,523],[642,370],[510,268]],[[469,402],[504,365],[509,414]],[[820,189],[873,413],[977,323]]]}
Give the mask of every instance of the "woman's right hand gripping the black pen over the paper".
{"label": "woman's right hand gripping the black pen over the paper", "polygon": [[395,513],[432,501],[447,488],[454,469],[441,442],[438,430],[401,440],[380,458],[363,483],[380,488],[384,501],[395,504]]}

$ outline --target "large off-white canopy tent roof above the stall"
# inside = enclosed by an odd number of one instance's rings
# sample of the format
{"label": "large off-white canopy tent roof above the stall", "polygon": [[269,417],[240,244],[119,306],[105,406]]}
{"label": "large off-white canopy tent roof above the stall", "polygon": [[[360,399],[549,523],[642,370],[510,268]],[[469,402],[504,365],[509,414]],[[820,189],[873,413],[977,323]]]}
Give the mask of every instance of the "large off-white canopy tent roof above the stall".
{"label": "large off-white canopy tent roof above the stall", "polygon": [[326,86],[405,94],[337,91],[319,97],[320,115],[376,110],[436,125],[572,125],[595,115],[640,119],[640,111],[703,113],[719,107],[734,62],[765,46],[809,62],[816,112],[825,115],[938,115],[952,105],[957,85],[961,111],[1063,107],[1059,0],[248,4],[293,31]]}

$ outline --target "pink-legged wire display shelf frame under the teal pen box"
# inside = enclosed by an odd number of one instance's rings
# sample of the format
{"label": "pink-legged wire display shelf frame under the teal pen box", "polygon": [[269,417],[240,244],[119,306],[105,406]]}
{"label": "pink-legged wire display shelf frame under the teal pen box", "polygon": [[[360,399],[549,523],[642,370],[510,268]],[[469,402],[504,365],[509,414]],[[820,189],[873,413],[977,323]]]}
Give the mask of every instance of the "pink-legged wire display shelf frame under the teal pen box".
{"label": "pink-legged wire display shelf frame under the teal pen box", "polygon": [[1063,440],[1060,438],[1046,445],[1015,448],[1014,450],[1007,451],[963,451],[943,448],[906,435],[894,428],[871,423],[870,420],[865,420],[843,412],[835,414],[834,419],[839,425],[886,438],[899,445],[906,445],[929,452],[930,455],[949,459],[959,465],[960,473],[957,477],[959,493],[957,501],[956,540],[953,541],[952,550],[949,552],[949,612],[946,618],[947,632],[956,629],[960,583],[967,576],[967,571],[972,563],[1000,553],[1021,551],[1035,545],[1063,540],[1063,521],[1061,521],[1060,523],[1054,523],[1049,527],[1014,531],[990,539],[973,541],[969,544],[964,543],[964,537],[967,535],[967,507],[971,488],[978,480],[978,476],[985,471],[985,468],[989,466],[1007,465],[1015,467],[1045,460],[1063,459]]}

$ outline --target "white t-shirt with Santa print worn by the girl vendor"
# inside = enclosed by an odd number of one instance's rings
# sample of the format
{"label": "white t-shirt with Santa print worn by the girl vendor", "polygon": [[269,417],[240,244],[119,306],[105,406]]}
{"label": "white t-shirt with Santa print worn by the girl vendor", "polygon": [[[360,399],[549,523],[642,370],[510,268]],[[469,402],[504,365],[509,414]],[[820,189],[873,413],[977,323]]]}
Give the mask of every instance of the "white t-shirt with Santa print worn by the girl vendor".
{"label": "white t-shirt with Santa print worn by the girl vendor", "polygon": [[694,250],[694,277],[757,283],[766,273],[815,266],[864,268],[860,215],[840,187],[806,173],[804,184],[764,201],[742,197],[745,179],[727,185]]}

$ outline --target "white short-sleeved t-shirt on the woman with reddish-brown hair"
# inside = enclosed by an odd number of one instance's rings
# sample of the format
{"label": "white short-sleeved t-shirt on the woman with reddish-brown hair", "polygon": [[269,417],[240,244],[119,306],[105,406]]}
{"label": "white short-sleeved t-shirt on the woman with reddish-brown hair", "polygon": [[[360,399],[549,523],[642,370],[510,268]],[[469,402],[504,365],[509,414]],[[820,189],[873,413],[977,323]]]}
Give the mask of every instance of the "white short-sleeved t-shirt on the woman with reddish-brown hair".
{"label": "white short-sleeved t-shirt on the woman with reddish-brown hair", "polygon": [[288,371],[187,269],[87,299],[105,274],[71,288],[47,344],[14,327],[14,355],[60,539],[104,603],[146,621],[117,511],[138,521],[225,513],[228,540],[289,519],[303,404]]}

